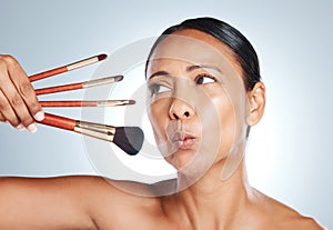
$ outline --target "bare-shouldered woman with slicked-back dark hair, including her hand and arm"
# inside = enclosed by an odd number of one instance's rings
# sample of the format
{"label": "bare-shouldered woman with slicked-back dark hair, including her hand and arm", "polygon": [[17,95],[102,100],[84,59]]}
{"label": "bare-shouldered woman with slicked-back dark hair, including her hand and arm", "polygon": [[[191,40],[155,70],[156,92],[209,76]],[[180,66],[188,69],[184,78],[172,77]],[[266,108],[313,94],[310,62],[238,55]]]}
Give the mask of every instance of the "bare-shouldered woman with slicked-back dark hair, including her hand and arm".
{"label": "bare-shouldered woman with slicked-back dark hair, including her hand and arm", "polygon": [[[0,63],[1,121],[36,131],[43,113],[26,73],[11,57]],[[265,87],[239,31],[211,18],[169,28],[150,52],[147,80],[155,140],[178,180],[2,178],[1,229],[322,229],[246,181],[243,153]]]}

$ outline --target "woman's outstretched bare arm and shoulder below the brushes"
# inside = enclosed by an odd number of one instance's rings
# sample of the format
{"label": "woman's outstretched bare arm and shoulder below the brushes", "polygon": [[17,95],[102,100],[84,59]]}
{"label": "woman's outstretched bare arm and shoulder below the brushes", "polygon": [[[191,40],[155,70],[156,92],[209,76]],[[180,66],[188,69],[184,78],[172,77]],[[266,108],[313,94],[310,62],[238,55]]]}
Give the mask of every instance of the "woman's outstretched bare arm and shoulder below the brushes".
{"label": "woman's outstretched bare arm and shoulder below the brushes", "polygon": [[94,176],[0,178],[0,229],[152,229],[162,212],[149,192]]}

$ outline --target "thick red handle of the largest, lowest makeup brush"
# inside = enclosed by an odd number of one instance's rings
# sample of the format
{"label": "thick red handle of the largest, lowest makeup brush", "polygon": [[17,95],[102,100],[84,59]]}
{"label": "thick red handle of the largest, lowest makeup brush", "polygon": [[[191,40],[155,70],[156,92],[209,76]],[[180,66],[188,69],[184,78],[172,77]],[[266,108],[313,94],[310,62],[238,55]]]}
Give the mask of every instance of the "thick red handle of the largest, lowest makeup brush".
{"label": "thick red handle of the largest, lowest makeup brush", "polygon": [[65,130],[70,130],[70,131],[74,130],[77,121],[73,119],[54,116],[54,114],[50,114],[50,113],[44,113],[44,116],[46,116],[44,120],[38,121],[39,123],[60,128],[60,129],[65,129]]}

